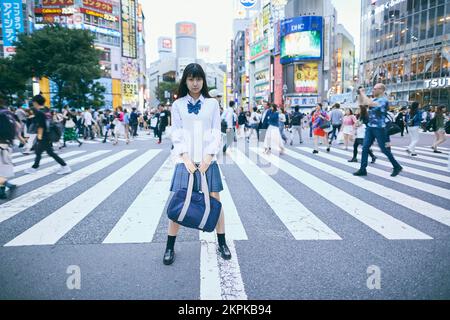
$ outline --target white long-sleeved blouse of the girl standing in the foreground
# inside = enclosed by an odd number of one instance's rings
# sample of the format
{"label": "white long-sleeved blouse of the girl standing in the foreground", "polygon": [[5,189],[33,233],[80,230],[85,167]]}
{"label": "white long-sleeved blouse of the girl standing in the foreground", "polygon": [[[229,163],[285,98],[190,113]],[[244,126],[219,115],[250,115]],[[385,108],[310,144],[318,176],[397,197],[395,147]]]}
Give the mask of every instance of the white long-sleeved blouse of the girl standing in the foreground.
{"label": "white long-sleeved blouse of the girl standing in the foreground", "polygon": [[[201,101],[199,113],[189,113],[188,102],[195,105],[198,100]],[[208,154],[213,155],[215,161],[222,148],[219,103],[203,95],[198,100],[187,95],[172,105],[173,155],[178,163],[183,161],[183,153],[188,153],[194,163],[202,162]]]}

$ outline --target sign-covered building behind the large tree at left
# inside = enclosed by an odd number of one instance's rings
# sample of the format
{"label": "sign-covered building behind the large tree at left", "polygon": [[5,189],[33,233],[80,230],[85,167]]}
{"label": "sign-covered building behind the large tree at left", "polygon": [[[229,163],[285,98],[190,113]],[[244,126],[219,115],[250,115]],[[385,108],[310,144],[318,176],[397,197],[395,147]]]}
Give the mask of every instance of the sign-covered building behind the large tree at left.
{"label": "sign-covered building behind the large tree at left", "polygon": [[[19,0],[5,0],[15,2]],[[102,52],[102,77],[107,108],[144,108],[146,91],[145,17],[138,0],[35,0],[27,4],[24,30],[32,32],[47,24],[89,30]],[[2,50],[4,51],[4,50]],[[48,79],[40,91],[48,101],[56,92]]]}

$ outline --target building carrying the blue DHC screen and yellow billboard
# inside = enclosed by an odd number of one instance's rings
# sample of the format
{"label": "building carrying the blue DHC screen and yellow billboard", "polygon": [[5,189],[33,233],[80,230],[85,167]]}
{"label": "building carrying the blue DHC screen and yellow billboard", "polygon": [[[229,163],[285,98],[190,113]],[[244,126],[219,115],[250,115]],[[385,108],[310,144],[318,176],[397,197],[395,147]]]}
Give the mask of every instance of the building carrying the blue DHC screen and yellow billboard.
{"label": "building carrying the blue DHC screen and yellow billboard", "polygon": [[304,108],[328,102],[337,79],[337,13],[331,0],[290,0],[280,27],[286,105]]}

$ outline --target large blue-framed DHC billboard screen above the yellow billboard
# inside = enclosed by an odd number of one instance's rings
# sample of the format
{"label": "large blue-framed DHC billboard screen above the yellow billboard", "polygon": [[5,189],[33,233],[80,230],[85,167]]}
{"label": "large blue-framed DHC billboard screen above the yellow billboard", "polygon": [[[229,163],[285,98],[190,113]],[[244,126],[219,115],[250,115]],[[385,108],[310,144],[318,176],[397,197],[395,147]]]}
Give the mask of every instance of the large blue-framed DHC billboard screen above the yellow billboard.
{"label": "large blue-framed DHC billboard screen above the yellow billboard", "polygon": [[297,17],[281,22],[281,63],[322,59],[322,17]]}

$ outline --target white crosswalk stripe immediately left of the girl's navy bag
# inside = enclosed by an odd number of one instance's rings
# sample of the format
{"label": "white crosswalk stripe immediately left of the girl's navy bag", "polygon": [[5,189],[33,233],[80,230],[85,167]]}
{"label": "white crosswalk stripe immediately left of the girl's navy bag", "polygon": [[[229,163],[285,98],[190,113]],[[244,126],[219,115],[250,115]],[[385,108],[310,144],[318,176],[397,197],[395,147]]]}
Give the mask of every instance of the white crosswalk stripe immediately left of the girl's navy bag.
{"label": "white crosswalk stripe immediately left of the girl's navy bag", "polygon": [[120,218],[103,243],[148,243],[170,196],[174,164],[169,157]]}

